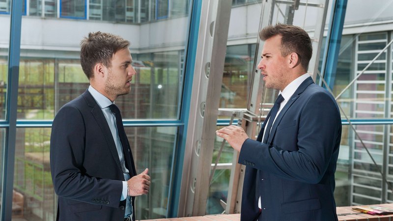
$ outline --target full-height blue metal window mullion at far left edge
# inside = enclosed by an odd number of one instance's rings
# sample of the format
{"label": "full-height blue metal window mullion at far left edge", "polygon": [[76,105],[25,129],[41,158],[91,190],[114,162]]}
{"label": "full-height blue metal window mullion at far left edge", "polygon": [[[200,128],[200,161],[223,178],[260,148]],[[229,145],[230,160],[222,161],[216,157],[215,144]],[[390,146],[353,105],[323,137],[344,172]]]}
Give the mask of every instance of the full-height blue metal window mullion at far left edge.
{"label": "full-height blue metal window mullion at far left edge", "polygon": [[11,3],[10,43],[8,54],[8,84],[6,101],[6,121],[9,127],[6,131],[4,152],[2,154],[2,197],[1,219],[11,220],[12,189],[15,166],[16,118],[18,101],[19,60],[21,49],[22,1]]}

